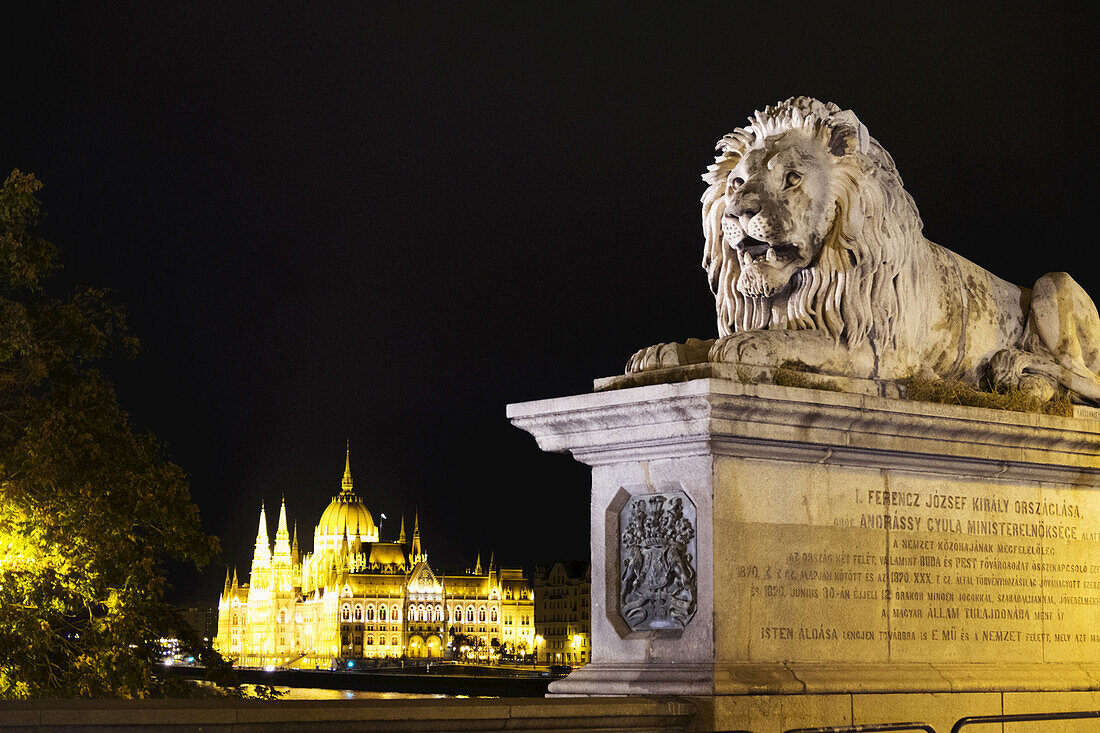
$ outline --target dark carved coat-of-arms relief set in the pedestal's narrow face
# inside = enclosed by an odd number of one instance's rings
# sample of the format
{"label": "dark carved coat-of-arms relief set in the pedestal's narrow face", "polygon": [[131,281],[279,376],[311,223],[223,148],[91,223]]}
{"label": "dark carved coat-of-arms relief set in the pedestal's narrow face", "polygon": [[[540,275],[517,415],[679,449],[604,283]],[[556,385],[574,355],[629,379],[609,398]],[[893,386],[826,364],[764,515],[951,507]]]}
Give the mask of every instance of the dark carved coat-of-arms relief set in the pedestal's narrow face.
{"label": "dark carved coat-of-arms relief set in the pedestal's narrow face", "polygon": [[696,606],[695,505],[676,491],[619,512],[619,613],[631,631],[680,630]]}

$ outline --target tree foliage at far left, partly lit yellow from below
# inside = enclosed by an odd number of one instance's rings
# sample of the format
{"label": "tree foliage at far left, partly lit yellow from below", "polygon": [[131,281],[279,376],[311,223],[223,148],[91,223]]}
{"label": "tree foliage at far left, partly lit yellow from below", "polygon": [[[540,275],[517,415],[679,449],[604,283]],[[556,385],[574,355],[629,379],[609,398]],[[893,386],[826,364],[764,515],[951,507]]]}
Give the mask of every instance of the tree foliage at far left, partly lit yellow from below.
{"label": "tree foliage at far left, partly lit yellow from below", "polygon": [[184,472],[96,369],[136,340],[106,294],[52,297],[38,180],[0,188],[0,698],[155,693],[161,562],[201,566]]}

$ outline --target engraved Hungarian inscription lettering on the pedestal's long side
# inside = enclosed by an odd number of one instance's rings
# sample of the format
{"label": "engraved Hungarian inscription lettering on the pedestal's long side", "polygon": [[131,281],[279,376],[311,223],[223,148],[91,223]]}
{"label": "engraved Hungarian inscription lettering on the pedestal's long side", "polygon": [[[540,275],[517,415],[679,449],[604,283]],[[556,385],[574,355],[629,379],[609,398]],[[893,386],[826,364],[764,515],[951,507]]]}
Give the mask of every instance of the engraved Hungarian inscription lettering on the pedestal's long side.
{"label": "engraved Hungarian inscription lettering on the pedestal's long side", "polygon": [[834,494],[820,525],[772,525],[733,569],[754,649],[1100,659],[1100,503],[1094,491],[1036,489],[895,475],[889,490]]}

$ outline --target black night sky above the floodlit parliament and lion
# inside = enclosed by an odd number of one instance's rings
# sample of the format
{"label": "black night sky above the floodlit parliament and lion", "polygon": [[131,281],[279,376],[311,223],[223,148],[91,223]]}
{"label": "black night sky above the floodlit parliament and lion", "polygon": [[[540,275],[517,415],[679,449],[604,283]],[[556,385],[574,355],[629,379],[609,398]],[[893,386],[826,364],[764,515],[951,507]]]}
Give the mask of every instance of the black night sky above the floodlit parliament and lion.
{"label": "black night sky above the floodlit parliament and lion", "polygon": [[242,573],[261,502],[308,548],[345,440],[437,570],[585,559],[587,468],[505,405],[714,336],[700,174],[792,95],[856,111],[933,241],[1100,297],[1093,25],[1049,4],[163,4],[0,21],[0,167],[127,305],[120,400]]}

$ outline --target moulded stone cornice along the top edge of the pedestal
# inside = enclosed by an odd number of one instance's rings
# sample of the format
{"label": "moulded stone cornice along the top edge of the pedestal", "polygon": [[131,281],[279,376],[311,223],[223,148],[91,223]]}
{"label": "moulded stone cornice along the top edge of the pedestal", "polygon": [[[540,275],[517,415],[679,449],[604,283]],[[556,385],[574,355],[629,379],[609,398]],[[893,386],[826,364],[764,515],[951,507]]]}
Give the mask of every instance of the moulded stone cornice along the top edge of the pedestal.
{"label": "moulded stone cornice along the top edge of the pedestal", "polygon": [[519,403],[508,417],[590,466],[717,455],[1100,485],[1100,420],[730,380]]}

